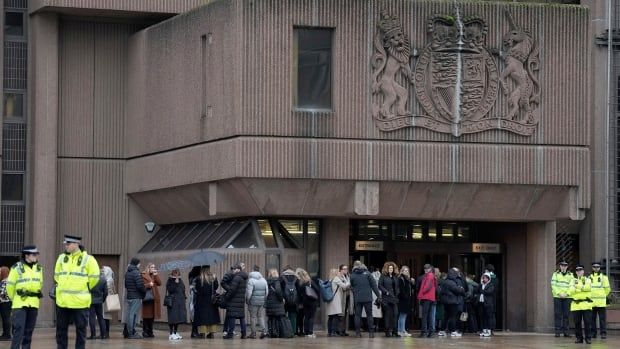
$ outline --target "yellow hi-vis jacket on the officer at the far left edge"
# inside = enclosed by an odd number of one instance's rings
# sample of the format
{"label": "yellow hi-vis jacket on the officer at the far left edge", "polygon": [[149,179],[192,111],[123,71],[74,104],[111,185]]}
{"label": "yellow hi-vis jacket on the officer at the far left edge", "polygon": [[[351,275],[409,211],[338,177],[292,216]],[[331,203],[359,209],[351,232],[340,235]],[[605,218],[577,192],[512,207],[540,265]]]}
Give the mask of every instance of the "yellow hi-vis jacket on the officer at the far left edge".
{"label": "yellow hi-vis jacket on the officer at the far left edge", "polygon": [[6,283],[6,293],[13,302],[13,309],[39,308],[37,294],[43,289],[43,268],[37,263],[32,268],[24,262],[11,267]]}

